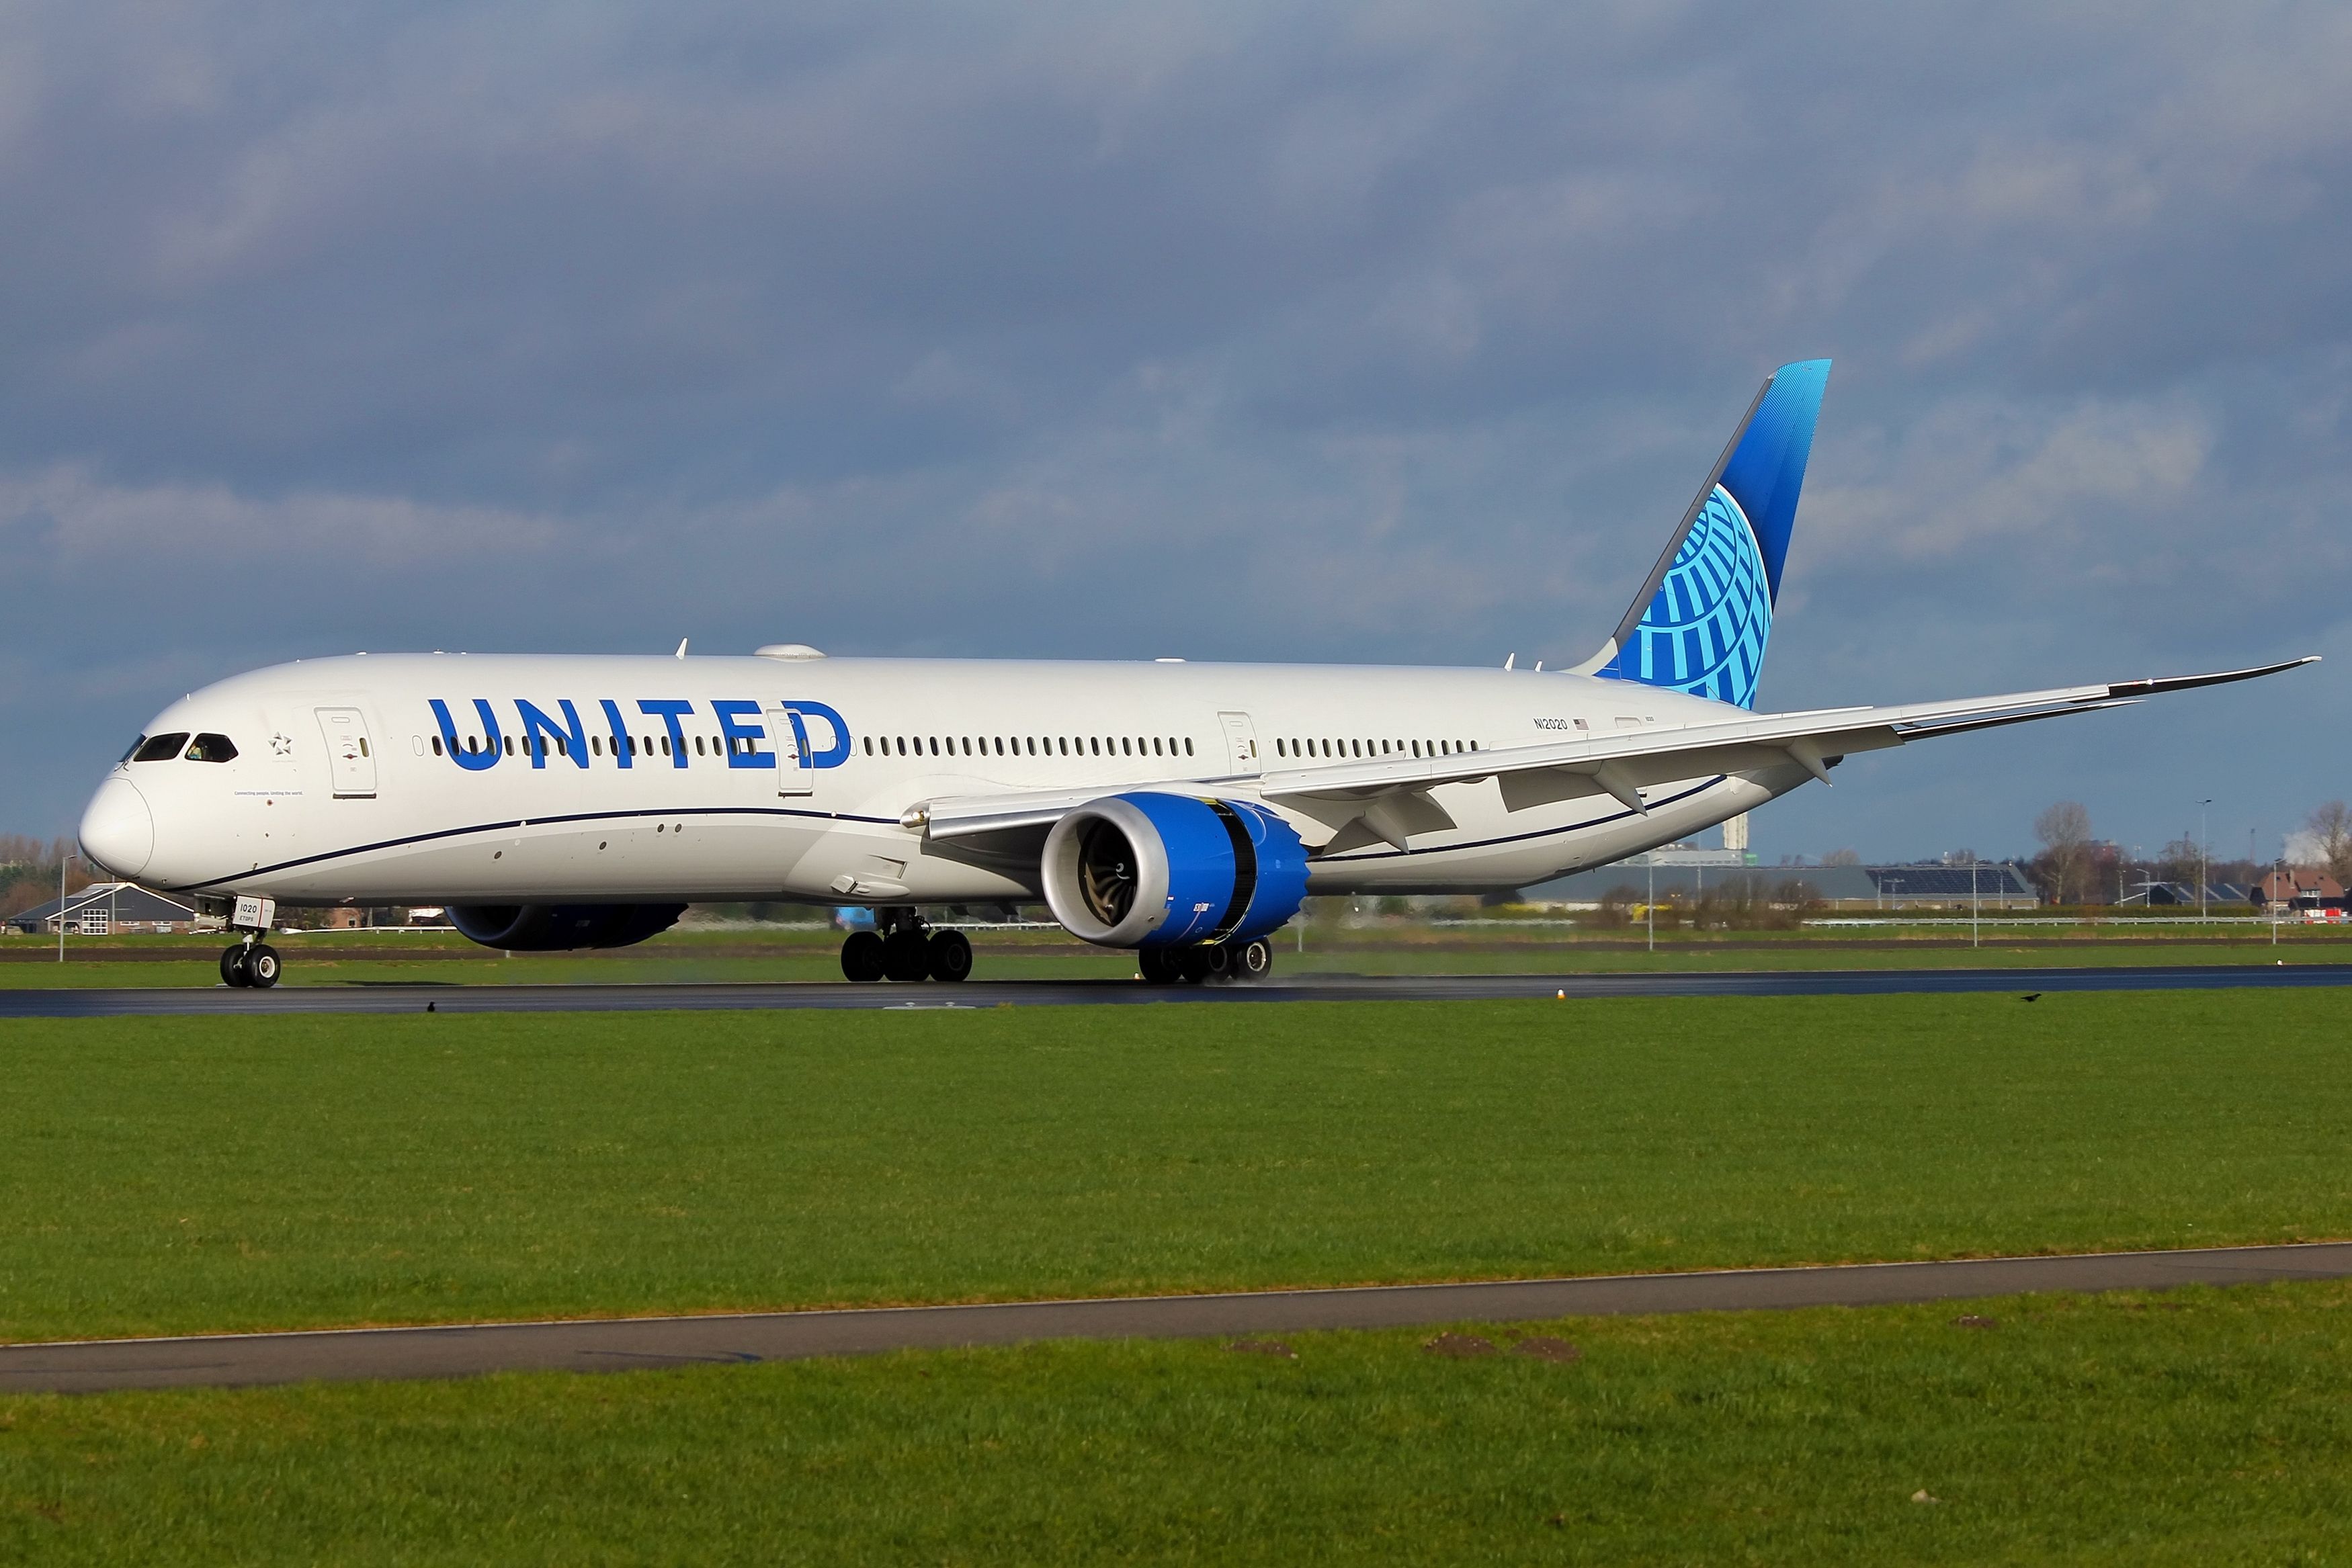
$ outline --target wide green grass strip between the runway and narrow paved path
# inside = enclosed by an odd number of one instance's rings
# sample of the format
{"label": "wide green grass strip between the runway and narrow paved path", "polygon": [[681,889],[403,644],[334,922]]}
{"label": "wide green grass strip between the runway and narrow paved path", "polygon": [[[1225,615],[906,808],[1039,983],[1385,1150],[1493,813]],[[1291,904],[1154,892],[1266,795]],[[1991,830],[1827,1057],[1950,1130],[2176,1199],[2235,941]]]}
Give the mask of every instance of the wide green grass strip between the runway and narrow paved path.
{"label": "wide green grass strip between the runway and narrow paved path", "polygon": [[0,1023],[0,1335],[2352,1234],[2352,994]]}

